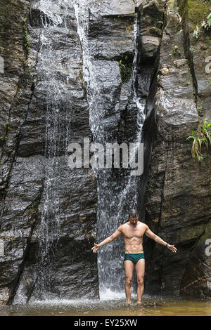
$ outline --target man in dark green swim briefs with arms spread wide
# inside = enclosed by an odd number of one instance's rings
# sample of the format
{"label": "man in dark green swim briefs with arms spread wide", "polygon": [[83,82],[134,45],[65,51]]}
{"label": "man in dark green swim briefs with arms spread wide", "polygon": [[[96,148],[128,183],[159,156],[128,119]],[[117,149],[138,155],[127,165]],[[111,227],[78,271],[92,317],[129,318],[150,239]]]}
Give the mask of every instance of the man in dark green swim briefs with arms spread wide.
{"label": "man in dark green swim briefs with arms spread wide", "polygon": [[143,234],[147,237],[153,239],[156,243],[166,246],[167,249],[176,253],[177,249],[174,245],[167,244],[167,242],[163,241],[160,237],[155,235],[146,225],[145,223],[141,223],[139,221],[139,215],[136,213],[136,210],[132,209],[129,211],[129,221],[120,225],[117,231],[104,239],[103,242],[99,244],[94,244],[94,247],[91,249],[94,253],[98,251],[98,249],[112,242],[117,237],[120,237],[123,234],[124,236],[124,272],[125,272],[125,294],[127,303],[131,303],[131,284],[132,284],[132,275],[134,271],[134,266],[136,269],[136,277],[137,277],[137,297],[138,303],[141,303],[141,299],[143,296],[143,277],[145,272],[145,259],[143,253]]}

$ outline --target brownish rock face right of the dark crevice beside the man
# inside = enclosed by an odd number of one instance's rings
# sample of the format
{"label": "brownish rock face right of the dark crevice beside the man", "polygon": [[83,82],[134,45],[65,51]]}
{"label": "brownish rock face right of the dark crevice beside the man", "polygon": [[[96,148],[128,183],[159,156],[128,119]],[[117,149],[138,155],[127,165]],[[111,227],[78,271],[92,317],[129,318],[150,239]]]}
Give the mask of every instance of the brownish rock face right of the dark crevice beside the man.
{"label": "brownish rock face right of the dark crevice beside the man", "polygon": [[[191,159],[186,140],[201,120],[209,122],[210,91],[205,87],[208,47],[199,39],[193,54],[187,1],[168,6],[160,48],[158,92],[155,97],[157,138],[149,171],[146,223],[158,236],[177,247],[173,254],[146,242],[149,293],[210,297],[210,150],[203,163]],[[195,26],[194,26],[195,28]],[[203,113],[200,103],[203,100]],[[203,117],[201,117],[203,116]],[[207,284],[208,283],[208,284]]]}

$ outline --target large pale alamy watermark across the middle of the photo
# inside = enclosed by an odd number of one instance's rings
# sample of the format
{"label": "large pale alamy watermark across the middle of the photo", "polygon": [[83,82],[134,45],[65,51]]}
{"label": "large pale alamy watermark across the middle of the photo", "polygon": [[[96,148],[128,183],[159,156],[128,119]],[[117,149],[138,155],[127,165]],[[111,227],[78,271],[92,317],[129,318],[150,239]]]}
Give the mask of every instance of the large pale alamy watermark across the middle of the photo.
{"label": "large pale alamy watermark across the middle of the photo", "polygon": [[[70,169],[84,167],[89,169],[120,169],[130,168],[131,176],[143,174],[143,143],[106,143],[106,149],[101,143],[90,143],[84,138],[83,147],[79,143],[70,143],[68,157]],[[90,152],[94,153],[90,157]],[[82,157],[83,156],[83,157]]]}

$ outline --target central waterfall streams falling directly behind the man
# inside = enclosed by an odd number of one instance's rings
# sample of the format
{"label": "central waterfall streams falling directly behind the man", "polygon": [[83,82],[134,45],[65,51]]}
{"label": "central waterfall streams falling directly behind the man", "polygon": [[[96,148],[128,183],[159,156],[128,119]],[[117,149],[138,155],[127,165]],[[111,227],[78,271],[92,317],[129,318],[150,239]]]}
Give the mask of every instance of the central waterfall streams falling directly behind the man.
{"label": "central waterfall streams falling directly behind the man", "polygon": [[[89,38],[89,4],[87,1],[74,1],[75,15],[77,16],[78,34],[82,42],[84,55],[84,81],[87,86],[89,102],[89,116],[91,131],[94,141],[103,145],[106,142],[117,142],[117,137],[110,134],[108,113],[106,112],[105,89],[110,80],[104,81],[109,65],[114,68],[118,62],[96,60],[91,48]],[[133,142],[141,143],[141,131],[145,118],[144,110],[146,98],[141,98],[137,93],[137,71],[140,51],[140,26],[138,12],[134,18],[134,62],[131,84],[130,105],[136,110],[136,134]],[[103,66],[102,66],[103,65]],[[98,72],[101,67],[101,75]],[[103,72],[103,70],[105,72]],[[110,71],[110,77],[113,72]],[[144,74],[143,74],[144,75]],[[110,79],[109,77],[109,79]],[[118,79],[118,77],[117,77]],[[120,77],[119,77],[120,79]],[[143,77],[143,80],[145,77]],[[106,86],[106,87],[105,87]],[[103,89],[104,87],[104,89]],[[103,109],[103,106],[105,110]],[[110,110],[112,112],[112,109]],[[113,110],[114,111],[114,110]],[[127,141],[124,141],[127,142]],[[136,150],[134,150],[136,152]],[[98,242],[110,236],[117,227],[128,220],[128,210],[139,203],[137,185],[140,177],[130,176],[125,169],[98,169],[94,171],[98,188]],[[141,220],[141,219],[140,219]],[[106,298],[109,293],[124,294],[124,242],[122,237],[111,244],[98,250],[98,276],[101,298]]]}

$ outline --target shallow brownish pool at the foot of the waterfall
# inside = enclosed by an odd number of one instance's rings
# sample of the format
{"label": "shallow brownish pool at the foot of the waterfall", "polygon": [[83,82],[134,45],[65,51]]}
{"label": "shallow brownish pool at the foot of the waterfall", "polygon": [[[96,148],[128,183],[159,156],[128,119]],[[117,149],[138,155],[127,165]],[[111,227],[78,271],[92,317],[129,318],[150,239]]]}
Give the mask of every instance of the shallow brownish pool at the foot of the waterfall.
{"label": "shallow brownish pool at the foot of the waterfall", "polygon": [[211,301],[184,298],[143,296],[142,304],[132,298],[105,300],[33,301],[29,305],[1,306],[0,316],[211,316]]}

